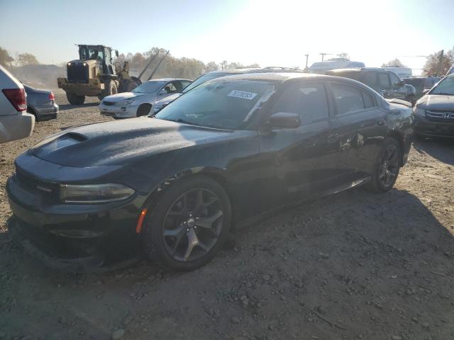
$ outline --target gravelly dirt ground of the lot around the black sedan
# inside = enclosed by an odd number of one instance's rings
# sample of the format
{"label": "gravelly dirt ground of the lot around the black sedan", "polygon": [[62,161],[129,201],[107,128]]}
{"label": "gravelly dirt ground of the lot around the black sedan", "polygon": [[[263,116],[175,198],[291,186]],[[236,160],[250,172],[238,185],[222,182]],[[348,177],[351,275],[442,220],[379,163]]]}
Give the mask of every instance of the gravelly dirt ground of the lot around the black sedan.
{"label": "gravelly dirt ground of the lot around the black sedan", "polygon": [[14,158],[62,128],[106,120],[68,106],[0,145],[0,339],[454,339],[454,142],[415,142],[395,188],[358,188],[233,235],[192,273],[45,268],[11,244]]}

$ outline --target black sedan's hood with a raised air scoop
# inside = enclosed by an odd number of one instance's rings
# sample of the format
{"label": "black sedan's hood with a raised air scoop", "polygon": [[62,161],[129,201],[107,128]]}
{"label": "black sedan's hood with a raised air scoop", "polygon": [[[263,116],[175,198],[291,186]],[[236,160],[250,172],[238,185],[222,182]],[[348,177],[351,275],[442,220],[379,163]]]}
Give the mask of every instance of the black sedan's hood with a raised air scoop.
{"label": "black sedan's hood with a raised air scoop", "polygon": [[126,165],[144,156],[228,140],[236,133],[240,132],[141,117],[66,130],[35,145],[31,152],[63,166]]}

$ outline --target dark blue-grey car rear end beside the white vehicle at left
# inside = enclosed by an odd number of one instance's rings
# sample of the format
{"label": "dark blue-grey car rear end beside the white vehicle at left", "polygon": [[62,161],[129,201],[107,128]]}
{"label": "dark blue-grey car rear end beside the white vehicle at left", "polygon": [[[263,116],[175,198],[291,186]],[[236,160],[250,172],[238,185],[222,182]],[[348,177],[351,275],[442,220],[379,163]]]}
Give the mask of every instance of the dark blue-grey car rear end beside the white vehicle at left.
{"label": "dark blue-grey car rear end beside the white vehicle at left", "polygon": [[27,94],[27,112],[35,116],[35,120],[57,118],[58,105],[52,91],[34,89],[23,84]]}

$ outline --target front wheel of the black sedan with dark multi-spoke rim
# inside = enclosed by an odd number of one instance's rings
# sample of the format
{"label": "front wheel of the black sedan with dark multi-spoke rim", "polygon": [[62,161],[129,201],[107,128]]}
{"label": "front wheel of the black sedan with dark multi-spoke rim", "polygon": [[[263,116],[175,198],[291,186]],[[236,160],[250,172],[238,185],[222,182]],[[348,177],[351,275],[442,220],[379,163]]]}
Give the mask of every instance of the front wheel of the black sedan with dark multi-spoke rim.
{"label": "front wheel of the black sedan with dark multi-spoke rim", "polygon": [[219,183],[192,176],[170,184],[148,205],[143,226],[143,248],[150,259],[175,271],[192,271],[222,249],[231,227],[231,203]]}

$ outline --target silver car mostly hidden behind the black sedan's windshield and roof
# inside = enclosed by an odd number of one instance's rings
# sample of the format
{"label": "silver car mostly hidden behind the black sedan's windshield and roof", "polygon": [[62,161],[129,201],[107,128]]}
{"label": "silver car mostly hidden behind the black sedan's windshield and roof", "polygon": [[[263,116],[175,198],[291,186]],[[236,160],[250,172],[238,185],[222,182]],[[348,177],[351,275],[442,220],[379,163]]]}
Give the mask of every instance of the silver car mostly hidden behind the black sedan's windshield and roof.
{"label": "silver car mostly hidden behind the black sedan's windshield and roof", "polygon": [[271,72],[286,72],[286,73],[302,73],[300,69],[294,69],[292,67],[254,67],[254,68],[244,68],[244,69],[218,69],[217,71],[208,72],[206,74],[202,74],[199,78],[192,81],[189,86],[187,86],[183,91],[172,94],[171,96],[167,96],[160,101],[157,101],[153,104],[153,114],[160,111],[161,108],[167,106],[168,103],[175,101],[179,96],[182,94],[187,93],[187,91],[194,89],[194,87],[203,84],[205,81],[209,81],[211,79],[216,79],[219,77],[226,77],[226,76],[233,76],[235,74],[249,74],[249,73],[271,73]]}

